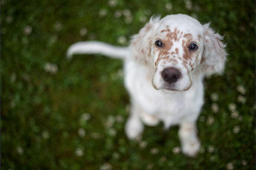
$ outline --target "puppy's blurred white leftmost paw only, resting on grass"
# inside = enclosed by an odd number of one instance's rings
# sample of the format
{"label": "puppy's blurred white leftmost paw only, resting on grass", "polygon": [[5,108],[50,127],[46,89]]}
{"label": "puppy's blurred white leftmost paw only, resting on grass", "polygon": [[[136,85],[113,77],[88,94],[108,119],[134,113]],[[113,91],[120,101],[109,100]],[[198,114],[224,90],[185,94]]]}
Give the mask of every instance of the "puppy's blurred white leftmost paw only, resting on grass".
{"label": "puppy's blurred white leftmost paw only, resting on grass", "polygon": [[125,133],[129,139],[135,139],[143,132],[144,126],[140,119],[129,118],[125,124]]}

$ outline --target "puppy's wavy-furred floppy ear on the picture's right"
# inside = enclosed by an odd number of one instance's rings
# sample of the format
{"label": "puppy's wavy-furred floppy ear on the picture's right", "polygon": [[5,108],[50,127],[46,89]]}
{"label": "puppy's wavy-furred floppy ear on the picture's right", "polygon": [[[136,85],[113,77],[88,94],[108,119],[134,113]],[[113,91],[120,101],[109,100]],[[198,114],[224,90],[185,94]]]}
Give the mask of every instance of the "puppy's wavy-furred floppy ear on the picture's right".
{"label": "puppy's wavy-furred floppy ear on the picture's right", "polygon": [[214,33],[210,23],[204,24],[204,51],[201,59],[201,69],[206,75],[221,74],[226,62],[226,44],[223,36]]}

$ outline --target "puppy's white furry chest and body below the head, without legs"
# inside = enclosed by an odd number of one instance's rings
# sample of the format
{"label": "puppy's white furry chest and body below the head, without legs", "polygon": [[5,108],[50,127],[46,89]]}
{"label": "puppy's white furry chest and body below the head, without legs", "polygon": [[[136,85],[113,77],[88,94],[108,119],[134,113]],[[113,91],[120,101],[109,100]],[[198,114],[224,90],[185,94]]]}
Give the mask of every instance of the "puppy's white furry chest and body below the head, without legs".
{"label": "puppy's white furry chest and body below the head, without legs", "polygon": [[198,113],[203,105],[201,81],[194,82],[188,91],[168,94],[155,90],[148,78],[148,72],[133,63],[125,64],[125,86],[132,104],[168,122],[167,124],[177,123],[186,115]]}

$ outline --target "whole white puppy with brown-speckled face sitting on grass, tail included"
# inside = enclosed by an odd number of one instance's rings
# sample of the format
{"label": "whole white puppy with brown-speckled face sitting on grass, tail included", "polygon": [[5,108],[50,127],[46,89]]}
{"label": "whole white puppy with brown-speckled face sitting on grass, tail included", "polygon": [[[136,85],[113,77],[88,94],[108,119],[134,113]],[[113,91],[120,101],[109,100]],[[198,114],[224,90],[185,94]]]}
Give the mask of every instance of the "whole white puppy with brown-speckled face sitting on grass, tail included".
{"label": "whole white puppy with brown-speckled face sitting on grass, tail included", "polygon": [[[124,59],[125,86],[131,113],[125,125],[129,139],[140,135],[143,123],[179,125],[182,151],[195,156],[200,149],[196,121],[204,103],[204,75],[219,74],[226,61],[223,37],[196,19],[183,15],[151,17],[132,37],[129,47],[88,41],[68,49],[73,54],[100,53]],[[143,123],[142,123],[143,122]]]}

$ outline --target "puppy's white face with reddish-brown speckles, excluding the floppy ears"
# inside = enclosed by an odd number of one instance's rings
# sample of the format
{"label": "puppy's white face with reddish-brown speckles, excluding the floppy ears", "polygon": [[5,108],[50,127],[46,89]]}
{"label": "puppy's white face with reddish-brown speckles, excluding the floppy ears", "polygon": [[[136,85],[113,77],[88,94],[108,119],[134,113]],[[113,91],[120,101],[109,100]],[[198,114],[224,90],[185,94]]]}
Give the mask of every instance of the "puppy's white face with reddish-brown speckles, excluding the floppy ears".
{"label": "puppy's white face with reddish-brown speckles, excluding the floppy ears", "polygon": [[151,48],[155,89],[186,91],[191,87],[191,75],[200,64],[204,50],[203,35],[203,26],[191,17],[160,21]]}

